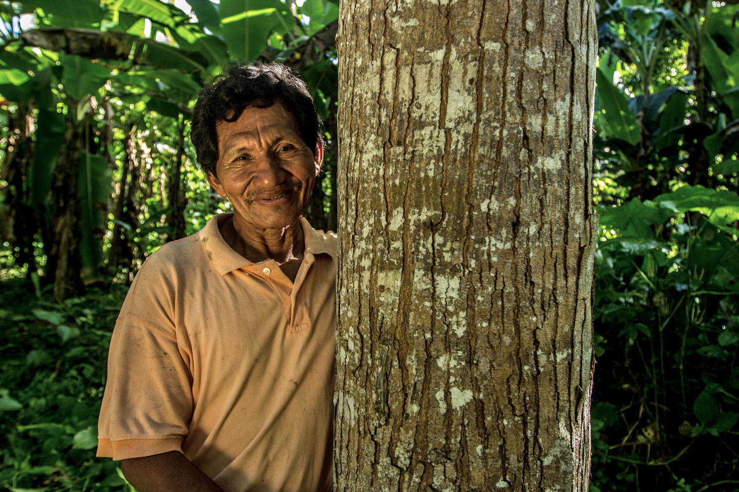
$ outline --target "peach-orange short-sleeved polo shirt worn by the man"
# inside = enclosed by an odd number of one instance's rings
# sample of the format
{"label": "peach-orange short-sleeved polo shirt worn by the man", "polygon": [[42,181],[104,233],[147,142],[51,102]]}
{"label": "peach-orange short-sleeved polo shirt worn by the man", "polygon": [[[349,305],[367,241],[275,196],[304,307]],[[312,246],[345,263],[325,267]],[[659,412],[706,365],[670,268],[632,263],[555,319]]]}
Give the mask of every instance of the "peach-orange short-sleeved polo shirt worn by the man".
{"label": "peach-orange short-sleeved polo shirt worn by the man", "polygon": [[113,330],[98,456],[181,451],[225,492],[333,488],[336,235],[300,218],[295,283],[215,215],[138,272]]}

